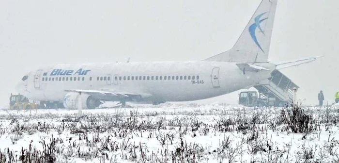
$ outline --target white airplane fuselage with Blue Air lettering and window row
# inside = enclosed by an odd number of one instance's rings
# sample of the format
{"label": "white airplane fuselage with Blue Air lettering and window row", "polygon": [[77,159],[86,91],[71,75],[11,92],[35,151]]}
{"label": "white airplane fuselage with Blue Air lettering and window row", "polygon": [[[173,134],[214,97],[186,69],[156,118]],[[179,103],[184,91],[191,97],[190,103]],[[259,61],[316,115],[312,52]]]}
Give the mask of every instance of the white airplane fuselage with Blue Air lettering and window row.
{"label": "white airplane fuselage with Blue Air lettering and window row", "polygon": [[81,89],[140,93],[152,102],[224,95],[269,78],[270,71],[244,74],[236,63],[201,61],[53,65],[27,75],[16,90],[33,100],[62,101],[65,90]]}

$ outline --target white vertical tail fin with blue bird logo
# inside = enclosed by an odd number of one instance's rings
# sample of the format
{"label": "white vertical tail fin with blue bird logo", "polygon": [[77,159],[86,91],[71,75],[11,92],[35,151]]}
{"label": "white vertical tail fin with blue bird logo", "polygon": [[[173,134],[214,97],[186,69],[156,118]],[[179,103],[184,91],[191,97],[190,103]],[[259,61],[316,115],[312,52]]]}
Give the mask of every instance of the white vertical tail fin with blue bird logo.
{"label": "white vertical tail fin with blue bird logo", "polygon": [[235,45],[204,61],[267,63],[277,0],[262,0]]}

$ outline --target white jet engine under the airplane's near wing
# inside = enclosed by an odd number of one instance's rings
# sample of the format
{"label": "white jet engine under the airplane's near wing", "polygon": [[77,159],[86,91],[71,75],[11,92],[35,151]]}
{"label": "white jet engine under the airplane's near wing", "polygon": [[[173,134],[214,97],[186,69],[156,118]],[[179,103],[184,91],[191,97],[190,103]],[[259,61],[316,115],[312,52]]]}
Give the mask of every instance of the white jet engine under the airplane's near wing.
{"label": "white jet engine under the airplane's near wing", "polygon": [[99,99],[93,98],[92,96],[84,93],[80,95],[76,92],[67,93],[62,100],[62,104],[66,109],[79,109],[80,97],[81,109],[94,109],[102,104]]}

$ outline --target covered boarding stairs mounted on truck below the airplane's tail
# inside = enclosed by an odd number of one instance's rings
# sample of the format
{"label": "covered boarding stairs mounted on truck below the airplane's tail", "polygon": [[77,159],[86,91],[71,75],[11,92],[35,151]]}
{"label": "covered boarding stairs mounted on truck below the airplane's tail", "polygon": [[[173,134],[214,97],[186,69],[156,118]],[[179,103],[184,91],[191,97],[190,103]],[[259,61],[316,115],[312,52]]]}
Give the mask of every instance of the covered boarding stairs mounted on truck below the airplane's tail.
{"label": "covered boarding stairs mounted on truck below the airplane's tail", "polygon": [[299,89],[293,81],[278,70],[271,73],[272,77],[255,85],[260,98],[267,99],[269,106],[282,107],[293,103],[293,88]]}

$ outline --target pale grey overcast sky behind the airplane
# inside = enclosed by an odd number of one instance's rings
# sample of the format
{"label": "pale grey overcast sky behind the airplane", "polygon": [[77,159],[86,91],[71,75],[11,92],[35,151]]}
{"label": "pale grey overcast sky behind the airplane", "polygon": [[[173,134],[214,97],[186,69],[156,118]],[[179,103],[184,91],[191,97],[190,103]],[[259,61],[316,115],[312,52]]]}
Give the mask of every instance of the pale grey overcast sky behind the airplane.
{"label": "pale grey overcast sky behind the airplane", "polygon": [[[230,49],[261,0],[1,0],[0,107],[41,66],[199,61]],[[339,90],[339,1],[279,0],[269,60],[325,55],[282,72],[298,98]],[[239,91],[238,91],[239,92]],[[202,100],[236,104],[238,92]]]}

